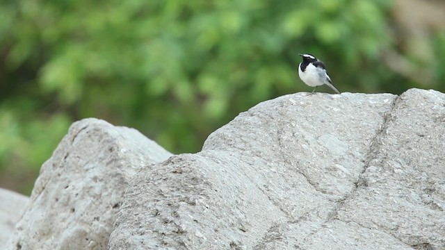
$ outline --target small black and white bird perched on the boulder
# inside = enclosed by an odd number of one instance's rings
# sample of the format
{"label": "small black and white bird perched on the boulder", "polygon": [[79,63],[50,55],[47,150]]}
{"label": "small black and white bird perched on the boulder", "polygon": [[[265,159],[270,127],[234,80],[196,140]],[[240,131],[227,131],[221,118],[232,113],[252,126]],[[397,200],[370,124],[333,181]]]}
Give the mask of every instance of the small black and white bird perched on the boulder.
{"label": "small black and white bird perched on the boulder", "polygon": [[340,91],[332,85],[331,78],[327,74],[325,65],[321,60],[318,60],[311,54],[299,55],[302,56],[303,61],[298,65],[298,76],[306,85],[315,87],[312,93],[314,93],[317,86],[325,84],[337,92],[337,94],[340,94]]}

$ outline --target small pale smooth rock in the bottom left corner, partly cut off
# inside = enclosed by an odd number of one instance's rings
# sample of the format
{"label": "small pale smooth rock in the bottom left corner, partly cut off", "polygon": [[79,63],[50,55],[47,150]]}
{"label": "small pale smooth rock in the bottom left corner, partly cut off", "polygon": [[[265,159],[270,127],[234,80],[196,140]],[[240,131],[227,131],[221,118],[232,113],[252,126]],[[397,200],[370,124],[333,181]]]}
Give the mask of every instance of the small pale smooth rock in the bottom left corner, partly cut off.
{"label": "small pale smooth rock in the bottom left corner, partly cut off", "polygon": [[19,221],[29,197],[0,188],[0,246],[4,246]]}

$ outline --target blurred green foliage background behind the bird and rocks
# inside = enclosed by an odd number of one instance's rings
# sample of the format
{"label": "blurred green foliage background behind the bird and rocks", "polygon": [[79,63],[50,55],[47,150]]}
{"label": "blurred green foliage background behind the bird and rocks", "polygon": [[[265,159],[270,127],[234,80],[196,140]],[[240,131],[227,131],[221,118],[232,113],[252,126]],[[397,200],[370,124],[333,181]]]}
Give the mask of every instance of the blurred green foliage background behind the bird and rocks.
{"label": "blurred green foliage background behind the bird and rocks", "polygon": [[238,113],[312,91],[298,53],[321,58],[342,92],[444,92],[442,2],[3,0],[0,186],[29,194],[85,117],[200,151]]}

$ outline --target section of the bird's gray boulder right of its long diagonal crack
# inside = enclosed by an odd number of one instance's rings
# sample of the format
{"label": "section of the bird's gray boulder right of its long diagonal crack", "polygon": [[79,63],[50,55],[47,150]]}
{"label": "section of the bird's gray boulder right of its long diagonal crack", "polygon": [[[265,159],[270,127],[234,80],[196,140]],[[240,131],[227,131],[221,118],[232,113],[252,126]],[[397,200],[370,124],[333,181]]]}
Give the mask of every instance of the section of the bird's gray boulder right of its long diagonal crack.
{"label": "section of the bird's gray boulder right of its long diagonal crack", "polygon": [[365,166],[335,218],[415,249],[445,249],[445,95],[402,94]]}

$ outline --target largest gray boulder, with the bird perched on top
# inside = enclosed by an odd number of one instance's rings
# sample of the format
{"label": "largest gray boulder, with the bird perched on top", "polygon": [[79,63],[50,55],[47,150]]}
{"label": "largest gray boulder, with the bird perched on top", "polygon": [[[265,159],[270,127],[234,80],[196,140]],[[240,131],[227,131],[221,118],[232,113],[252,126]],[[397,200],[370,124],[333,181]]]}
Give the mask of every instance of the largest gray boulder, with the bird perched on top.
{"label": "largest gray boulder, with the bird perched on top", "polygon": [[145,167],[109,249],[445,249],[445,95],[291,94]]}

